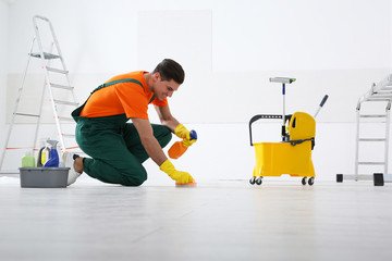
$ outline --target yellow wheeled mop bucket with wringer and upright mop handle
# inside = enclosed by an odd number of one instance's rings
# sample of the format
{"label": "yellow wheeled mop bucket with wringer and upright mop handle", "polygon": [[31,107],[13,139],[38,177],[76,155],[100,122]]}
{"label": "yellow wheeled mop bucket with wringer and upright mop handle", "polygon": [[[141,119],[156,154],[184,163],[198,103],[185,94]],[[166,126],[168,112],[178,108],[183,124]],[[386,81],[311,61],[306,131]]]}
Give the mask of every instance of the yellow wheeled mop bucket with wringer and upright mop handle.
{"label": "yellow wheeled mop bucket with wringer and upright mop handle", "polygon": [[[315,167],[311,161],[311,150],[315,147],[316,121],[315,117],[328,99],[326,95],[315,116],[305,112],[295,112],[293,115],[285,115],[284,95],[285,84],[295,82],[295,78],[270,78],[270,82],[282,84],[283,114],[258,114],[249,121],[250,146],[255,146],[256,165],[249,183],[261,185],[265,176],[290,176],[303,177],[302,184],[314,185]],[[281,119],[282,141],[281,142],[258,142],[253,144],[252,124],[260,119]],[[289,125],[286,125],[289,123]],[[309,179],[308,179],[309,178]]]}

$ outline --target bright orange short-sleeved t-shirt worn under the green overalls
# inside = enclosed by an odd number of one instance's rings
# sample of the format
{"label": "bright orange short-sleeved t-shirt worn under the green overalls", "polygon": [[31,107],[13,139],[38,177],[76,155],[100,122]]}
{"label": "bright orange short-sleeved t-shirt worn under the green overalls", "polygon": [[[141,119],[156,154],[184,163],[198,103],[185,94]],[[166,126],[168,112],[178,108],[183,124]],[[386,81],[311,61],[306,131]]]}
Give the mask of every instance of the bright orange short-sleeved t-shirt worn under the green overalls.
{"label": "bright orange short-sleeved t-shirt worn under the green overalls", "polygon": [[[126,117],[148,119],[148,104],[154,96],[147,90],[147,82],[144,71],[132,72],[114,76],[107,83],[118,79],[136,79],[143,87],[136,83],[119,83],[96,90],[87,100],[81,112],[81,116],[101,117],[124,114]],[[168,100],[154,99],[151,102],[158,107],[168,105]]]}

